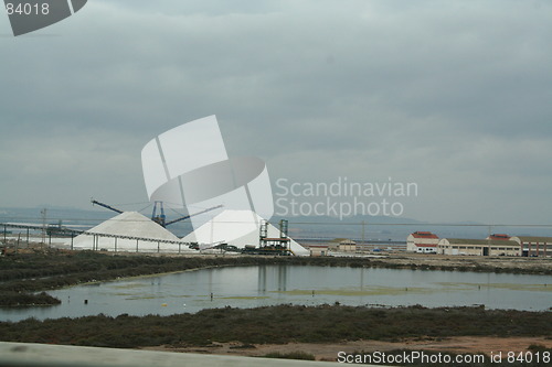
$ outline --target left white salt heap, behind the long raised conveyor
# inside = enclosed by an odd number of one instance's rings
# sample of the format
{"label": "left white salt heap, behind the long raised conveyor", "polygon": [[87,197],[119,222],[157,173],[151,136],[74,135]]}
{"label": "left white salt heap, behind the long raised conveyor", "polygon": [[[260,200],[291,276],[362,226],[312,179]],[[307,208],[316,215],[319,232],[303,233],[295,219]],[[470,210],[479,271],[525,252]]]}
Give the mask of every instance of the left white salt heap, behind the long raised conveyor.
{"label": "left white salt heap, behind the long raised conveyor", "polygon": [[[178,244],[163,244],[156,241],[160,240],[172,240],[178,241],[178,237],[171,234],[166,228],[161,227],[153,220],[147,218],[138,212],[125,212],[121,213],[104,223],[100,223],[96,227],[87,230],[94,234],[105,234],[114,236],[130,236],[148,238],[153,240],[138,240],[138,251],[139,252],[157,252],[158,246],[161,252],[178,252]],[[108,251],[136,251],[136,239],[117,238],[117,241],[113,237],[99,237],[91,235],[78,235],[73,239],[74,249],[92,250],[94,249],[94,238],[96,237],[97,246],[96,249],[107,249]],[[71,240],[66,242],[71,245]],[[181,246],[182,251],[193,251],[188,248],[188,246]]]}

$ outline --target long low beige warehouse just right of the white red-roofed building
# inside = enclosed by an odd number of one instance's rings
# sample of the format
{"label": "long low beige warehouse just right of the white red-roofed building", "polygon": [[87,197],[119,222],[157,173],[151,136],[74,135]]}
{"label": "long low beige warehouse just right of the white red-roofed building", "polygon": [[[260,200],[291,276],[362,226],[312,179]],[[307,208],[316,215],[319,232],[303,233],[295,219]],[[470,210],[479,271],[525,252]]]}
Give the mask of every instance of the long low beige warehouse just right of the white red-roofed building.
{"label": "long low beige warehouse just right of the white red-roofed building", "polygon": [[443,238],[437,245],[437,253],[476,256],[520,256],[521,247],[513,240]]}

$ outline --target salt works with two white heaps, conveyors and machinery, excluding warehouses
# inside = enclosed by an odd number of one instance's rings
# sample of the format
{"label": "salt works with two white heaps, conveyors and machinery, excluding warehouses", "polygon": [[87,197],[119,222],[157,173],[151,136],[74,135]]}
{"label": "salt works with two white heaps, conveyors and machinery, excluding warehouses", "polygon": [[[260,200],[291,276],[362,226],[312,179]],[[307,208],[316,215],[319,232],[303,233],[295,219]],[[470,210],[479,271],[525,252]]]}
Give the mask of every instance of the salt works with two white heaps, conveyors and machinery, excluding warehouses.
{"label": "salt works with two white heaps, conveyors and machinery, excluding warehouses", "polygon": [[[309,255],[309,251],[305,247],[288,236],[287,220],[280,220],[278,224],[279,228],[277,228],[252,211],[219,211],[219,214],[212,216],[198,229],[179,238],[168,230],[167,226],[189,219],[194,215],[221,209],[221,207],[216,206],[177,219],[167,220],[162,202],[155,203],[151,218],[138,212],[124,212],[95,199],[92,199],[92,203],[113,211],[117,215],[85,230],[72,229],[62,225],[45,226],[44,224],[42,226],[33,226],[7,223],[2,224],[6,237],[4,242],[8,245],[7,229],[14,228],[23,230],[23,238],[19,234],[18,244],[29,244],[30,231],[42,231],[44,235],[47,235],[43,236],[43,242],[47,240],[52,247],[68,250]],[[52,241],[52,239],[54,240]]]}

